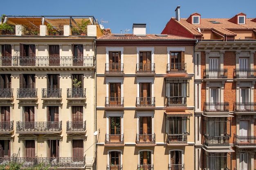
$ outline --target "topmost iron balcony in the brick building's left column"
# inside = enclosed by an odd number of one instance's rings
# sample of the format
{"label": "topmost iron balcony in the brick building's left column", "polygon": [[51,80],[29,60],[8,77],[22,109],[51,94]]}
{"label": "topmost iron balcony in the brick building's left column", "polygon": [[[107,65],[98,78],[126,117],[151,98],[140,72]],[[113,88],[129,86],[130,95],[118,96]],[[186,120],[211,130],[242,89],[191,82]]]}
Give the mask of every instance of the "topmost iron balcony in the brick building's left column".
{"label": "topmost iron balcony in the brick building's left column", "polygon": [[204,69],[203,78],[227,78],[227,69]]}

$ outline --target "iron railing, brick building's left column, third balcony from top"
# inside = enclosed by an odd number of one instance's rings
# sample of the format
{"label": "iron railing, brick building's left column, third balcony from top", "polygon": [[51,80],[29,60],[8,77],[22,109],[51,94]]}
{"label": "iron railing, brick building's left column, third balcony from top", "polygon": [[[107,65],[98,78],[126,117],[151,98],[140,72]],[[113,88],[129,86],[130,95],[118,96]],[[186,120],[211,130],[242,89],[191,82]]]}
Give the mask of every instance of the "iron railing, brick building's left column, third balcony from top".
{"label": "iron railing, brick building's left column, third balcony from top", "polygon": [[207,136],[204,135],[204,145],[206,146],[229,146],[230,136]]}

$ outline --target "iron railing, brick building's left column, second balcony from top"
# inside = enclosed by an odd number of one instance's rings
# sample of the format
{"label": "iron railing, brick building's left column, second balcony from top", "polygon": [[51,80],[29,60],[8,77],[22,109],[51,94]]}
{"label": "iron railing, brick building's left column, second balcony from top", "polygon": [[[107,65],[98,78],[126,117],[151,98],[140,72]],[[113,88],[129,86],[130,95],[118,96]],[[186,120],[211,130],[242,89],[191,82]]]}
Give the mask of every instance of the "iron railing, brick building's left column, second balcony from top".
{"label": "iron railing, brick building's left column, second balcony from top", "polygon": [[229,102],[204,102],[205,112],[228,112]]}

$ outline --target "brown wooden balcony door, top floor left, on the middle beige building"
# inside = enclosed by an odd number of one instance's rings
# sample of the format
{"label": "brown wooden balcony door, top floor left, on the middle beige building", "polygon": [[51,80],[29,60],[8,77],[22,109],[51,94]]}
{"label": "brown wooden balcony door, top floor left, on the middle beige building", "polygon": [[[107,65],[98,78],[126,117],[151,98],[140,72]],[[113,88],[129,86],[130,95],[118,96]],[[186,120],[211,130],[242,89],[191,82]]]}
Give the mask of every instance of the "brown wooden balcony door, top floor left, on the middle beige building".
{"label": "brown wooden balcony door, top floor left, on the middle beige building", "polygon": [[121,71],[121,52],[109,52],[109,71]]}

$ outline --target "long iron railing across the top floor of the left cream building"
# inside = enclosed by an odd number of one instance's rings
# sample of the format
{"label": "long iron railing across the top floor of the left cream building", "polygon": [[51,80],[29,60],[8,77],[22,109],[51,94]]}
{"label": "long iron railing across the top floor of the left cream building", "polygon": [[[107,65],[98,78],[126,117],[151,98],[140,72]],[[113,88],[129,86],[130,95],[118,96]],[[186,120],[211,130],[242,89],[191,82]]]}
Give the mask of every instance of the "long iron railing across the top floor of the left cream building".
{"label": "long iron railing across the top floor of the left cream building", "polygon": [[49,67],[49,66],[84,66],[94,67],[94,56],[2,56],[0,60],[0,66],[34,66],[34,67]]}

